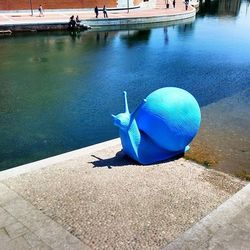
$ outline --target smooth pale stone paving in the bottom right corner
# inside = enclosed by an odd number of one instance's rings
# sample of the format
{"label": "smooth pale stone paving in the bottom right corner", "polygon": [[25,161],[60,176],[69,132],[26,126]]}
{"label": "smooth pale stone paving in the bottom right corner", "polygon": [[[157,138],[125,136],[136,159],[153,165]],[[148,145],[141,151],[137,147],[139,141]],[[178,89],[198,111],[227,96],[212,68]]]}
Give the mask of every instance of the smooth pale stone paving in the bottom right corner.
{"label": "smooth pale stone paving in the bottom right corner", "polygon": [[249,250],[250,184],[165,248],[176,249]]}

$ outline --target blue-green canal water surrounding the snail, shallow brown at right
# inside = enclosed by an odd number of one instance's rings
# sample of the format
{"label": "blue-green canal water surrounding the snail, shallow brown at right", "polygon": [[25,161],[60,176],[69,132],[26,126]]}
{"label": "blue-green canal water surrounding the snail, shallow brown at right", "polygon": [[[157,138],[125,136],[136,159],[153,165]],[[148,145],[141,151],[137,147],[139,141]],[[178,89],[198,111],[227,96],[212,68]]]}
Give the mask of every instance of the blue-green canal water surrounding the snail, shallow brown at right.
{"label": "blue-green canal water surrounding the snail, shallow brown at right", "polygon": [[0,38],[0,169],[118,136],[111,113],[153,90],[191,92],[202,111],[187,158],[250,173],[250,2],[205,1],[194,21]]}

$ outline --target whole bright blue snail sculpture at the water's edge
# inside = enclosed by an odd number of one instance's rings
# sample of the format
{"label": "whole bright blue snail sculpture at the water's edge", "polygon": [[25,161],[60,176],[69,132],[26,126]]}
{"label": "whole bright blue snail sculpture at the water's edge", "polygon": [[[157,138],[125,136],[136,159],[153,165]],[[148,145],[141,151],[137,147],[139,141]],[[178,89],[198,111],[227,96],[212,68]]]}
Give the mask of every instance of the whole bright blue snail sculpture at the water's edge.
{"label": "whole bright blue snail sculpture at the water's edge", "polygon": [[166,87],[147,96],[133,113],[124,91],[125,112],[112,115],[119,127],[124,152],[141,164],[151,164],[183,154],[197,134],[201,113],[187,91]]}

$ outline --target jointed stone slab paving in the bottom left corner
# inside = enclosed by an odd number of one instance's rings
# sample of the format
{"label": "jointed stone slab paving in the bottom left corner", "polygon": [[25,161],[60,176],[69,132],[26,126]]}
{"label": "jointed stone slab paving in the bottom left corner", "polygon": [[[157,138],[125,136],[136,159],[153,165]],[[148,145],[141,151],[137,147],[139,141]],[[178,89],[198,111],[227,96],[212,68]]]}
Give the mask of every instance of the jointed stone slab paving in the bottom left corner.
{"label": "jointed stone slab paving in the bottom left corner", "polygon": [[87,249],[80,240],[0,183],[0,249]]}

